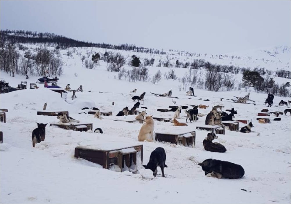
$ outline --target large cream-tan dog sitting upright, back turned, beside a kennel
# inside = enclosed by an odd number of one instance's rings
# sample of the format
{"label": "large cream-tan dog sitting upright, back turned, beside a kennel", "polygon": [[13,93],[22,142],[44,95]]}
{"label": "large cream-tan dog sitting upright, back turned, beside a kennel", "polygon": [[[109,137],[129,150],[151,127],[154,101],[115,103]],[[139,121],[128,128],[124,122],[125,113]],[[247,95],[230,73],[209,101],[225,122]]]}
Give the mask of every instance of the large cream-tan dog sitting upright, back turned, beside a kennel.
{"label": "large cream-tan dog sitting upright, back turned, beside a kennel", "polygon": [[146,122],[141,126],[141,129],[139,130],[139,141],[148,141],[151,142],[154,140],[154,120],[152,119],[152,116],[145,116]]}

